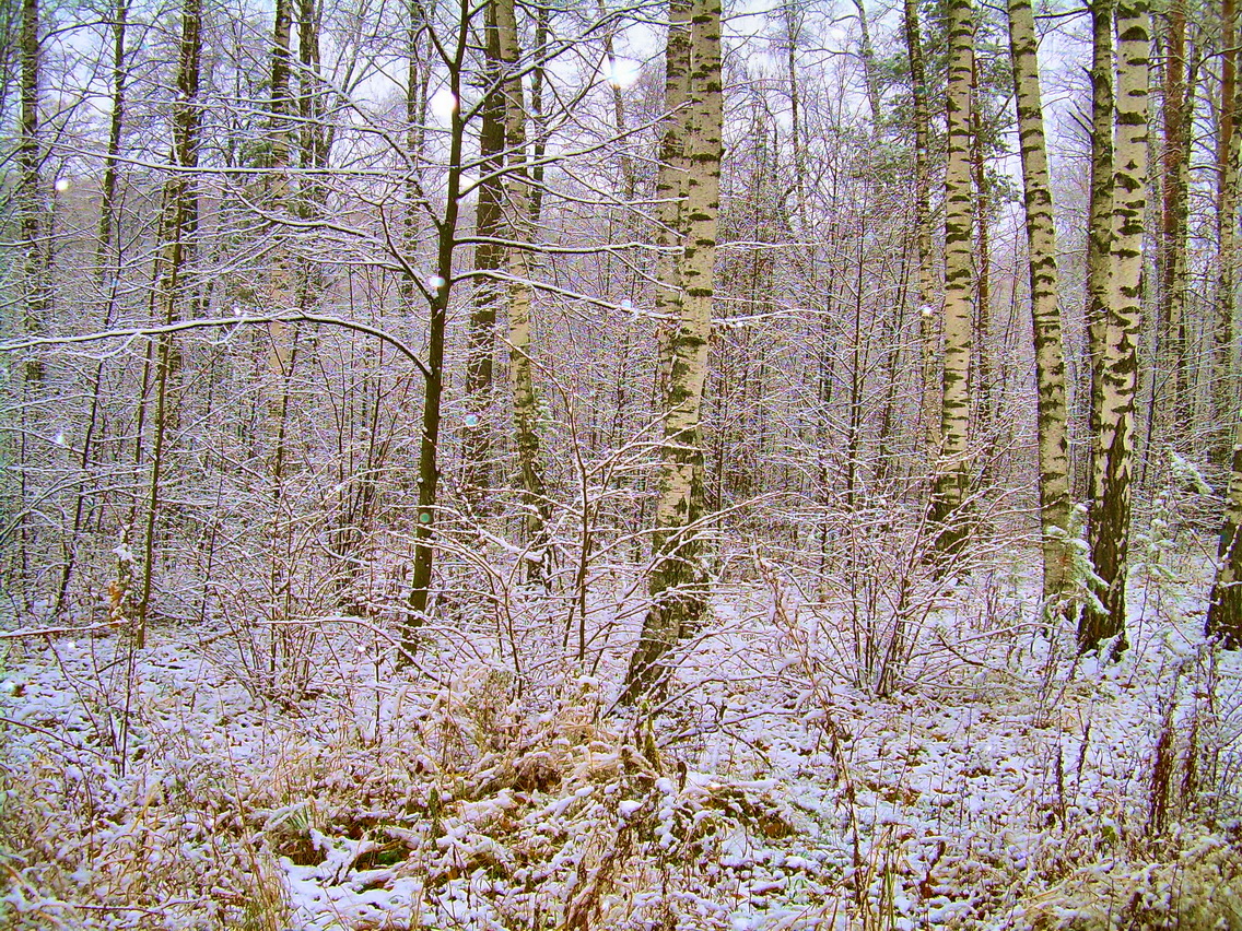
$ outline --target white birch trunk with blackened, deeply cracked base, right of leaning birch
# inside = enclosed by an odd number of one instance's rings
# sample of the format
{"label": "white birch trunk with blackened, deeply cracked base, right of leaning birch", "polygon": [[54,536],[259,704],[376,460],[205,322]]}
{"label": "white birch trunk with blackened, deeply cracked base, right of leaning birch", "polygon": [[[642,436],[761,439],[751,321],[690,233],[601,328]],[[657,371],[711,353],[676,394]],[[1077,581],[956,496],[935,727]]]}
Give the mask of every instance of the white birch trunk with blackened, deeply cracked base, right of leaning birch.
{"label": "white birch trunk with blackened, deeply cracked base, right of leaning birch", "polygon": [[1151,20],[1145,0],[1117,5],[1118,76],[1113,196],[1113,281],[1104,328],[1095,500],[1090,510],[1092,564],[1103,581],[1099,606],[1078,626],[1081,650],[1115,637],[1125,648],[1125,575],[1130,541],[1134,402],[1143,299],[1143,233],[1148,205],[1148,70]]}

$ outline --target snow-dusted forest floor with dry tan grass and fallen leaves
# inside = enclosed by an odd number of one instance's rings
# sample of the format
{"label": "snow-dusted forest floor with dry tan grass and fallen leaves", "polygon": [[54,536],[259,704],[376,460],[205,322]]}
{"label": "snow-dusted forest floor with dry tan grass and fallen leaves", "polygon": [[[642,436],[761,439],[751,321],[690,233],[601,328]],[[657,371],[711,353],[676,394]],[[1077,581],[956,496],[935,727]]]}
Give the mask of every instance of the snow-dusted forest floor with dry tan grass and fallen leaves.
{"label": "snow-dusted forest floor with dry tan grass and fallen leaves", "polygon": [[1206,560],[1134,573],[1102,665],[1009,559],[899,632],[756,571],[638,711],[616,592],[585,668],[534,596],[406,669],[347,617],[6,639],[0,927],[1242,929]]}

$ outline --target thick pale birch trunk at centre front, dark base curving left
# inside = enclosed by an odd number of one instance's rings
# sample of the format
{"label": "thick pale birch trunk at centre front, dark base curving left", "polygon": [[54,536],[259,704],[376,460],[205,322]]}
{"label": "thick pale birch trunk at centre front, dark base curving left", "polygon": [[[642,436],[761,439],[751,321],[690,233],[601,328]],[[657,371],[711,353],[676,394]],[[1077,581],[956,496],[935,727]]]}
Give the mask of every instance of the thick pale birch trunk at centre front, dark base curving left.
{"label": "thick pale birch trunk at centre front, dark base curving left", "polygon": [[[672,4],[671,4],[672,5]],[[672,11],[671,11],[671,19]],[[700,410],[712,333],[717,216],[719,212],[723,93],[720,83],[720,0],[693,0],[688,99],[686,103],[684,248],[679,264],[682,312],[671,339],[664,402],[660,500],[652,547],[651,609],[630,662],[626,698],[658,688],[663,658],[705,612],[694,484],[703,462]],[[673,30],[671,29],[671,36]],[[671,50],[673,56],[676,50]],[[671,62],[673,63],[673,62]]]}

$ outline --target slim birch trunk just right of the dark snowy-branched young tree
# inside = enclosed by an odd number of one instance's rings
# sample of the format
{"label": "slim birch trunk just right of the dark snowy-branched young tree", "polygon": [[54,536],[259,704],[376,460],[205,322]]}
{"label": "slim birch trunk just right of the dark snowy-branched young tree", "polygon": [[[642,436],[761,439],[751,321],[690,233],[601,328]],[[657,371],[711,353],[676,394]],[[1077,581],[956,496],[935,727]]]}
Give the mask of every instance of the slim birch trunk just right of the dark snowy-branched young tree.
{"label": "slim birch trunk just right of the dark snowy-branched young tree", "polygon": [[513,425],[522,479],[527,545],[527,580],[539,581],[548,570],[546,528],[551,518],[539,449],[538,410],[530,362],[530,175],[527,164],[525,102],[518,67],[518,24],[513,0],[494,0],[496,30],[501,46],[504,88],[505,174],[504,226],[510,245],[505,256],[509,305],[509,387],[513,391]]}

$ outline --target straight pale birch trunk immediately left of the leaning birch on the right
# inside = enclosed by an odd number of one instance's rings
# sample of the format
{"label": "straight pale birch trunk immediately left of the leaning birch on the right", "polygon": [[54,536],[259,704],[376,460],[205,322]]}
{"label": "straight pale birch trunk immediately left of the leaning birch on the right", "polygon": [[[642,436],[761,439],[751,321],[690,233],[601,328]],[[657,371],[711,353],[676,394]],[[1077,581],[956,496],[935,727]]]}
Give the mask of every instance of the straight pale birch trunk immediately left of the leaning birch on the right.
{"label": "straight pale birch trunk immediately left of the leaning birch on the right", "polygon": [[944,376],[940,391],[940,456],[930,518],[936,550],[956,552],[965,542],[961,506],[970,487],[970,355],[974,329],[974,197],[970,179],[970,83],[975,22],[970,0],[949,6],[949,163],[944,195]]}

